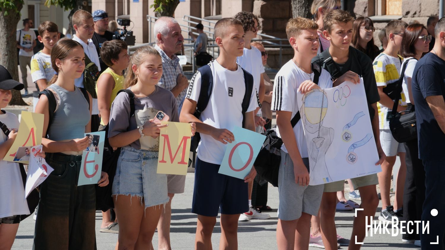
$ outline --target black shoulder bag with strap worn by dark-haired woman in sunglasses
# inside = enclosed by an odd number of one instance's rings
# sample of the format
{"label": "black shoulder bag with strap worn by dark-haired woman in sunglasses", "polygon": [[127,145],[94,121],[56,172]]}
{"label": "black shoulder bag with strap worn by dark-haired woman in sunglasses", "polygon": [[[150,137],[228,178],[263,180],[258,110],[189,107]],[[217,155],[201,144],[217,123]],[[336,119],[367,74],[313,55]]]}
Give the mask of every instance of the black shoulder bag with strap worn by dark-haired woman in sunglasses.
{"label": "black shoulder bag with strap worn by dark-haired woman in sunglasses", "polygon": [[[397,113],[397,105],[399,104],[399,100],[401,98],[402,93],[402,83],[403,77],[405,76],[406,65],[408,65],[408,61],[413,58],[406,60],[403,65],[399,81],[397,81],[397,96],[394,100],[394,105],[392,106],[392,117],[389,119],[389,129],[391,130],[392,137],[396,139],[399,143],[411,141],[417,139],[417,122],[416,122],[416,112],[414,110],[404,110],[402,112]],[[405,113],[404,115],[402,115]]]}

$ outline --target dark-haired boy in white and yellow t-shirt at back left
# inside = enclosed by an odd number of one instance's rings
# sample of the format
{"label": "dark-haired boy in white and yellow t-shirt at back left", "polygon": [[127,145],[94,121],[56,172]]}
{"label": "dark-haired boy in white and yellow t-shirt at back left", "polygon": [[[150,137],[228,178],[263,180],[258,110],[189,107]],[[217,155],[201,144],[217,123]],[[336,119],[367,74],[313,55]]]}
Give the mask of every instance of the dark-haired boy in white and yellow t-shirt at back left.
{"label": "dark-haired boy in white and yellow t-shirt at back left", "polygon": [[48,82],[56,74],[51,65],[51,50],[60,38],[57,24],[45,21],[39,25],[37,39],[43,43],[44,48],[31,59],[31,77],[37,84],[38,90],[46,89]]}

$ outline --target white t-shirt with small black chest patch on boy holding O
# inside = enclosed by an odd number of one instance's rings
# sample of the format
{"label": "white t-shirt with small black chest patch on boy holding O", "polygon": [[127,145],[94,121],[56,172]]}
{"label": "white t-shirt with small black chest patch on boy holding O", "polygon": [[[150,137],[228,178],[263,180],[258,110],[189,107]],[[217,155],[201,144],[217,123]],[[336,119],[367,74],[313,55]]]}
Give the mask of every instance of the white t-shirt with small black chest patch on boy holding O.
{"label": "white t-shirt with small black chest patch on boy holding O", "polygon": [[[213,89],[210,101],[206,109],[202,111],[203,123],[217,129],[233,130],[235,126],[243,126],[242,107],[246,85],[244,84],[244,73],[241,67],[236,71],[230,71],[219,65],[216,60],[210,62],[213,74]],[[186,98],[198,101],[201,92],[201,73],[197,72],[190,81]],[[252,90],[251,100],[247,112],[254,111],[258,107],[256,93]],[[210,135],[201,133],[197,153],[199,159],[220,165],[223,161],[227,145],[216,141]]]}

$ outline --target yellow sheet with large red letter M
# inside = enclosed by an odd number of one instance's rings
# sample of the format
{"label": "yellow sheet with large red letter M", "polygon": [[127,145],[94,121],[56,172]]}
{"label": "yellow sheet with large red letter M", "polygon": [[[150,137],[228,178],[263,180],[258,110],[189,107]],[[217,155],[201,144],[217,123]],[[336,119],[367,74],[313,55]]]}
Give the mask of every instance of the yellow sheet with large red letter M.
{"label": "yellow sheet with large red letter M", "polygon": [[190,123],[163,121],[168,124],[159,136],[157,173],[186,175],[190,155]]}

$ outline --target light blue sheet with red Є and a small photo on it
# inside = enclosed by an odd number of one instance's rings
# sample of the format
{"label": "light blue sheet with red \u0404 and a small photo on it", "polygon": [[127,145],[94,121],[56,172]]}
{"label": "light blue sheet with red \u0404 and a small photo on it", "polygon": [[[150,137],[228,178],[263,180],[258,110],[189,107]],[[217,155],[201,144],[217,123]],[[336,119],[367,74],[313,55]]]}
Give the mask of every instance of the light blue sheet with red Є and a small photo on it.
{"label": "light blue sheet with red \u0404 and a small photo on it", "polygon": [[77,185],[97,184],[101,179],[105,131],[85,133],[89,145],[82,152],[81,171]]}

